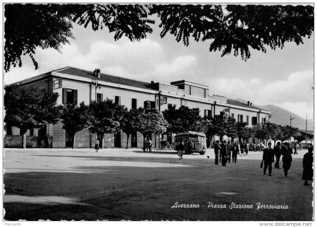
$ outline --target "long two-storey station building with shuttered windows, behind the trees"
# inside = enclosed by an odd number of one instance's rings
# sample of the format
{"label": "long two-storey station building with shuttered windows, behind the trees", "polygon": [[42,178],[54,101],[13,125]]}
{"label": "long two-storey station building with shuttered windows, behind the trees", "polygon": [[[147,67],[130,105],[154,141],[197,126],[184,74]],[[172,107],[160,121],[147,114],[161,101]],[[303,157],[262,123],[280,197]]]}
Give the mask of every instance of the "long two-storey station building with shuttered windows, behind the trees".
{"label": "long two-storey station building with shuttered windows, behind the trees", "polygon": [[[106,98],[127,108],[156,108],[159,111],[166,110],[173,105],[176,108],[188,106],[199,108],[202,117],[228,114],[237,121],[247,122],[248,125],[265,122],[268,114],[263,110],[252,106],[252,103],[241,103],[224,96],[210,95],[209,87],[185,80],[174,81],[170,84],[147,83],[137,80],[115,77],[100,73],[100,70],[87,71],[73,67],[54,70],[36,77],[20,81],[17,85],[32,85],[39,89],[57,92],[59,94],[57,104],[101,101]],[[7,126],[8,135],[20,135],[20,130]],[[48,124],[41,129],[28,131],[27,135],[37,136],[39,140],[51,139],[51,147],[72,147],[73,141],[68,136],[67,130],[62,129],[62,124]],[[153,147],[159,147],[162,141],[160,135],[152,136]],[[93,147],[96,135],[88,129],[76,134],[76,148]],[[117,132],[104,136],[104,147],[126,147],[126,134]],[[143,136],[135,132],[130,136],[129,147],[143,147]]]}

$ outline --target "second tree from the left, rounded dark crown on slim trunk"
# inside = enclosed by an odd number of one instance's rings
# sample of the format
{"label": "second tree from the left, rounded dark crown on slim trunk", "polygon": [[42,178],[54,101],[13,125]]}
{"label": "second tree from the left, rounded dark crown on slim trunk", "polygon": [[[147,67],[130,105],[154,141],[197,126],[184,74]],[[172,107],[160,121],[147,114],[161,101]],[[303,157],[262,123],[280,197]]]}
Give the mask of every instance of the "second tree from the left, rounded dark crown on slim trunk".
{"label": "second tree from the left, rounded dark crown on slim trunk", "polygon": [[88,128],[91,125],[90,120],[89,107],[84,102],[81,102],[79,106],[71,103],[62,106],[61,123],[63,129],[73,137],[73,149],[75,148],[76,133]]}

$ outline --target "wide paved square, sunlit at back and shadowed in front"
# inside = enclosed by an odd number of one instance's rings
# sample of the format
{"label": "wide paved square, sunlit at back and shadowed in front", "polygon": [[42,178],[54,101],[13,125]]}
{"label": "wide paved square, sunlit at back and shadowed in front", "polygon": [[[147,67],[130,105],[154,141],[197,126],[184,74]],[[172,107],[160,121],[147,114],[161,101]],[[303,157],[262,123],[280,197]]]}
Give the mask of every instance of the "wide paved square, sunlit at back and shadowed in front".
{"label": "wide paved square, sunlit at back and shadowed in front", "polygon": [[[301,180],[306,152],[293,155],[288,177],[274,167],[269,177],[262,152],[223,167],[213,150],[179,160],[141,149],[5,149],[4,219],[311,221],[313,187]],[[253,208],[230,209],[239,204]]]}

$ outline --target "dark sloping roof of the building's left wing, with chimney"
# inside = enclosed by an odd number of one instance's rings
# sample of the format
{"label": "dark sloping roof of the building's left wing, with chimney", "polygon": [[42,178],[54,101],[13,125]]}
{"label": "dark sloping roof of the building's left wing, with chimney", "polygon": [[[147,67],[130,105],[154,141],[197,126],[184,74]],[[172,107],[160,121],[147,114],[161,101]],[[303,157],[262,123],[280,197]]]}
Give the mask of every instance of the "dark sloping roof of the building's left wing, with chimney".
{"label": "dark sloping roof of the building's left wing, with chimney", "polygon": [[142,82],[142,81],[127,79],[123,77],[115,77],[115,76],[107,75],[104,73],[100,73],[100,78],[98,78],[94,76],[93,71],[87,71],[87,70],[77,69],[73,67],[66,67],[60,70],[54,70],[52,72],[58,72],[58,73],[68,74],[68,75],[77,76],[77,77],[85,77],[85,78],[90,78],[93,80],[106,81],[109,83],[117,83],[117,84],[137,87],[137,88],[154,90],[149,87],[148,82]]}

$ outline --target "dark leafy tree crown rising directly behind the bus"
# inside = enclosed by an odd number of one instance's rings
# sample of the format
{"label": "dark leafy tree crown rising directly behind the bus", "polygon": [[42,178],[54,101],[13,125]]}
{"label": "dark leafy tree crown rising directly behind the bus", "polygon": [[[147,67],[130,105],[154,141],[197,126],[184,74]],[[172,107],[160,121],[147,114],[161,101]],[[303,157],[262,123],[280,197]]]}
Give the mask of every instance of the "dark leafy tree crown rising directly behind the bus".
{"label": "dark leafy tree crown rising directly behind the bus", "polygon": [[168,131],[171,133],[182,133],[187,131],[201,131],[203,125],[200,124],[202,117],[199,115],[199,109],[190,109],[187,106],[181,106],[176,109],[173,105],[171,109],[162,111],[165,120],[170,124]]}

